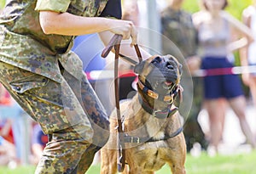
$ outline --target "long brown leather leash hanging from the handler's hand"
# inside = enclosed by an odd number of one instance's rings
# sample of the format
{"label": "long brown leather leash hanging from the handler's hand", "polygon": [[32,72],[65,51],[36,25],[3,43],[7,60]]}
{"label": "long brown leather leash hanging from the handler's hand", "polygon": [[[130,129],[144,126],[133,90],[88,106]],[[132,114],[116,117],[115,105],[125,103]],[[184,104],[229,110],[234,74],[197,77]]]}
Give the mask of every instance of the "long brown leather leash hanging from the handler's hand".
{"label": "long brown leather leash hanging from the handler's hand", "polygon": [[[115,93],[115,105],[116,105],[116,112],[117,112],[117,119],[118,119],[118,134],[119,134],[119,161],[121,163],[121,167],[119,168],[119,172],[124,171],[125,169],[125,139],[124,139],[124,127],[122,125],[121,121],[121,115],[120,115],[120,106],[119,106],[119,56],[121,56],[123,59],[131,63],[131,65],[137,65],[137,62],[133,59],[130,59],[122,54],[119,53],[120,50],[120,43],[123,39],[123,36],[121,35],[114,35],[110,42],[108,43],[108,46],[103,49],[102,51],[102,58],[106,58],[108,56],[108,53],[114,48],[114,93]],[[137,53],[137,57],[139,59],[139,62],[143,61],[142,54],[137,46],[134,45],[135,51]]]}

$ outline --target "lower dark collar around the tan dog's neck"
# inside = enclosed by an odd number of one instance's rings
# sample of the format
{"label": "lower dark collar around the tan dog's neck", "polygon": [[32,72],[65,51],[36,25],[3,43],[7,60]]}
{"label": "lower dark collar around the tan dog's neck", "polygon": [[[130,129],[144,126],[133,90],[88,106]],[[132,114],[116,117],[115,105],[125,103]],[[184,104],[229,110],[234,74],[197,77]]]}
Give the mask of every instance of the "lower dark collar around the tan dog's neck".
{"label": "lower dark collar around the tan dog's neck", "polygon": [[174,115],[177,112],[177,107],[174,109],[172,108],[172,104],[168,104],[168,107],[163,110],[155,110],[154,108],[150,107],[147,102],[143,100],[143,98],[138,95],[139,103],[142,104],[143,109],[148,112],[150,115],[154,115],[154,117],[158,119],[166,119],[167,117]]}

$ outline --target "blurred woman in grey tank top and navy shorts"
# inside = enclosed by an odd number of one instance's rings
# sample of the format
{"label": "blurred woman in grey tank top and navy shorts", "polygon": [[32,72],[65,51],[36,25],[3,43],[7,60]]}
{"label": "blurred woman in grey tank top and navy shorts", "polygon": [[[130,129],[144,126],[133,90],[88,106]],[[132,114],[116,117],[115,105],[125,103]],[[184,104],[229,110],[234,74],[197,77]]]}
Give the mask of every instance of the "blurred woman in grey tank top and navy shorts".
{"label": "blurred woman in grey tank top and navy shorts", "polygon": [[[203,70],[232,68],[233,64],[229,59],[232,52],[253,41],[249,28],[224,11],[227,5],[226,0],[202,0],[203,9],[193,16],[198,31],[199,55],[202,58]],[[218,144],[222,138],[222,121],[225,115],[223,99],[230,104],[230,108],[237,115],[247,142],[255,148],[253,132],[245,115],[246,98],[239,76],[214,76],[214,74],[205,76],[204,92],[211,132],[209,154],[218,153]]]}

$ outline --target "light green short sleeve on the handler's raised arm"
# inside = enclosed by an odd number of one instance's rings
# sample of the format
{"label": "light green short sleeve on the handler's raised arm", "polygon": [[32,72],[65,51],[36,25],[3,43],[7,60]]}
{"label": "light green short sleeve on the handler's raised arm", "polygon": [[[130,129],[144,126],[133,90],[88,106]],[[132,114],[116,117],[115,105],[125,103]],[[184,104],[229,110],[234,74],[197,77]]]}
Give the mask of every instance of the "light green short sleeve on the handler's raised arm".
{"label": "light green short sleeve on the handler's raised arm", "polygon": [[38,0],[35,10],[66,12],[71,0]]}

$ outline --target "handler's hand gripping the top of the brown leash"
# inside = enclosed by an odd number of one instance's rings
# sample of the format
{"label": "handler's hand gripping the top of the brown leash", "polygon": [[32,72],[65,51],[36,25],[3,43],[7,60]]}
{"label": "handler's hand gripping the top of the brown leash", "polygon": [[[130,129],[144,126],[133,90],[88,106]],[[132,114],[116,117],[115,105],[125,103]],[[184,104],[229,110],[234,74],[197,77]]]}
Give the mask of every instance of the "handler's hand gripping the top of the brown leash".
{"label": "handler's hand gripping the top of the brown leash", "polygon": [[137,29],[135,25],[129,20],[112,20],[111,29],[109,31],[114,34],[123,36],[123,39],[130,39],[131,37],[131,46],[137,44]]}

